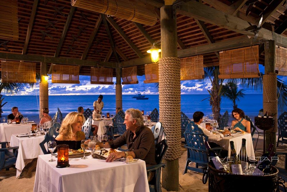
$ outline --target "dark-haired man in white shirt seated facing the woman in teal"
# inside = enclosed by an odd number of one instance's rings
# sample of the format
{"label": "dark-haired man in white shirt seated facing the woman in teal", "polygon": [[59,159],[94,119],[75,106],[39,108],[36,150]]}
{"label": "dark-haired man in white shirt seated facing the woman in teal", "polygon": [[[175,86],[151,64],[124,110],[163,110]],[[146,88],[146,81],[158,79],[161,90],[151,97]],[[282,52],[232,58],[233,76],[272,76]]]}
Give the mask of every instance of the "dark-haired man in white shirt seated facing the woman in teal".
{"label": "dark-haired man in white shirt seated facing the woman in teal", "polygon": [[203,131],[203,133],[208,136],[208,143],[210,145],[210,147],[220,147],[219,145],[217,145],[216,143],[214,143],[214,141],[220,141],[225,134],[230,134],[230,132],[228,130],[224,131],[222,134],[213,134],[212,127],[211,126],[206,126],[206,128],[201,127],[200,123],[202,123],[203,121],[203,116],[204,113],[202,113],[201,111],[196,111],[195,113],[193,113],[193,121],[195,124],[197,124],[197,126]]}

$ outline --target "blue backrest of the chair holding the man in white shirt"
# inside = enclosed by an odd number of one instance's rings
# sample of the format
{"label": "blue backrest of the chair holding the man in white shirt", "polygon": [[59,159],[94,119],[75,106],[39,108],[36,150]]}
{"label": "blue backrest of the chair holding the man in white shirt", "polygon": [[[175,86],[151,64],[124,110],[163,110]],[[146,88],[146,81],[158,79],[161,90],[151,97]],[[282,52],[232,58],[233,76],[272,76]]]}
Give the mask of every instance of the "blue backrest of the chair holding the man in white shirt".
{"label": "blue backrest of the chair holding the man in white shirt", "polygon": [[187,157],[190,161],[196,163],[206,164],[208,162],[207,158],[207,149],[204,145],[205,141],[208,140],[208,136],[203,134],[201,128],[197,126],[193,121],[190,121],[187,125],[185,135],[185,142],[189,148],[189,157]]}

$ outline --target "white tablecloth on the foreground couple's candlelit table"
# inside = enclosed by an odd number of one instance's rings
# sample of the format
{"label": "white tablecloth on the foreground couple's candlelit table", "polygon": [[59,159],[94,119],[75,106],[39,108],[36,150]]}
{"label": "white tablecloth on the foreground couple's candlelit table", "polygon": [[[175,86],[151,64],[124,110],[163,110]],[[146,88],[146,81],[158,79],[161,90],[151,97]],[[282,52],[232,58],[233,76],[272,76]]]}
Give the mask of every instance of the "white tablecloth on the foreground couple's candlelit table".
{"label": "white tablecloth on the foreground couple's candlelit table", "polygon": [[[53,157],[56,159],[55,157]],[[126,164],[121,161],[69,159],[70,166],[56,168],[51,155],[39,155],[34,183],[36,191],[149,191],[146,163]]]}

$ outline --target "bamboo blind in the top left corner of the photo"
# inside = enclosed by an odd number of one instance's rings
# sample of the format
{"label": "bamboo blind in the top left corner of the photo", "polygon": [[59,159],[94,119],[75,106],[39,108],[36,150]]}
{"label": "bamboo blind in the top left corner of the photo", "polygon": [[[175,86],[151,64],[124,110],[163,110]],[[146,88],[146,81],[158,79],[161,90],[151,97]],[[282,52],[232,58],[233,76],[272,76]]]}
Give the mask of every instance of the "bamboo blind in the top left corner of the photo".
{"label": "bamboo blind in the top left corner of the photo", "polygon": [[17,41],[19,38],[17,0],[1,0],[0,39]]}

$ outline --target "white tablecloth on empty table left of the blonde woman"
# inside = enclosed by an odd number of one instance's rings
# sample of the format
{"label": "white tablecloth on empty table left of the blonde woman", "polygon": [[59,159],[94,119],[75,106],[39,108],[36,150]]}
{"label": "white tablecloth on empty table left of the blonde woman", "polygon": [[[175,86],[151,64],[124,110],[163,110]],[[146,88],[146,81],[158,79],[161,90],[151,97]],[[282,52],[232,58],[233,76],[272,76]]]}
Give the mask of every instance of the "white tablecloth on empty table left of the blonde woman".
{"label": "white tablecloth on empty table left of the blonde woman", "polygon": [[[10,147],[19,146],[18,156],[15,167],[17,169],[16,178],[20,176],[25,167],[25,159],[34,159],[38,155],[43,155],[43,151],[39,145],[44,140],[44,135],[38,137],[16,137],[18,134],[13,134],[10,140]],[[47,147],[47,146],[45,146]]]}

